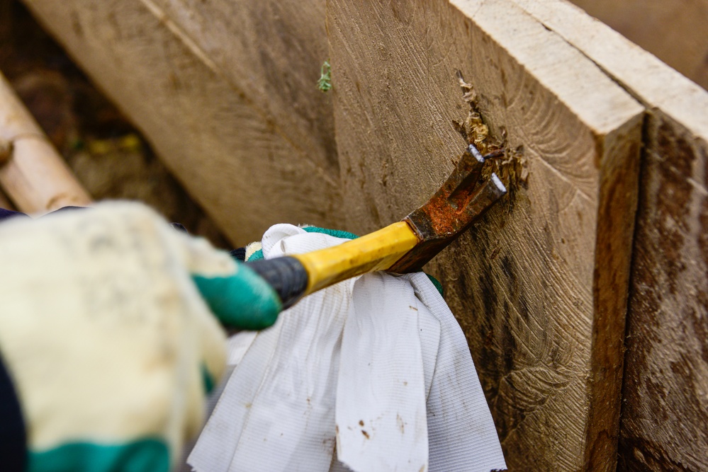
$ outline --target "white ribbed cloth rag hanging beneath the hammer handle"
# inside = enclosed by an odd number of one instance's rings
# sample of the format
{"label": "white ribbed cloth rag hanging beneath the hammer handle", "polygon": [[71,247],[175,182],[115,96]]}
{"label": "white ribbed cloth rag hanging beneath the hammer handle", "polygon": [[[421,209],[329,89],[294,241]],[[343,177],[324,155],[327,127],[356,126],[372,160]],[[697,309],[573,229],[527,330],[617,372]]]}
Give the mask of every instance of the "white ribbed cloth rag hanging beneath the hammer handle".
{"label": "white ribbed cloth rag hanging beneath the hammer handle", "polygon": [[[262,246],[268,259],[344,241],[278,224]],[[189,455],[198,472],[506,468],[466,339],[425,274],[341,282],[231,347]]]}

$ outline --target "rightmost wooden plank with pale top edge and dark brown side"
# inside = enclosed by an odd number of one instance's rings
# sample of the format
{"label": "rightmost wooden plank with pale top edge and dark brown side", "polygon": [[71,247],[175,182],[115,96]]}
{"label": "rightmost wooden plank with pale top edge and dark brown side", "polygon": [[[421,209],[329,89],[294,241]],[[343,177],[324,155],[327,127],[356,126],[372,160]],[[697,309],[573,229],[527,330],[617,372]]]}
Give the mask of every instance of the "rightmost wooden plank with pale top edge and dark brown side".
{"label": "rightmost wooden plank with pale top edge and dark brown side", "polygon": [[708,93],[566,2],[516,1],[649,110],[627,321],[620,466],[706,470]]}

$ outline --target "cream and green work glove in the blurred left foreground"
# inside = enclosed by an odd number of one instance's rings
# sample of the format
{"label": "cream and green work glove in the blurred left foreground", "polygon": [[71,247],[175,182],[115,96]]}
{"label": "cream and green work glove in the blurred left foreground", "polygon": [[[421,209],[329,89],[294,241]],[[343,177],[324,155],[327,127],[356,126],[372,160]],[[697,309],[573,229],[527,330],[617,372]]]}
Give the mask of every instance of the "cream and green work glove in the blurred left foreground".
{"label": "cream and green work glove in the blurred left foreground", "polygon": [[245,265],[137,203],[0,224],[0,357],[27,470],[167,472],[225,369],[209,306],[242,328],[280,311]]}

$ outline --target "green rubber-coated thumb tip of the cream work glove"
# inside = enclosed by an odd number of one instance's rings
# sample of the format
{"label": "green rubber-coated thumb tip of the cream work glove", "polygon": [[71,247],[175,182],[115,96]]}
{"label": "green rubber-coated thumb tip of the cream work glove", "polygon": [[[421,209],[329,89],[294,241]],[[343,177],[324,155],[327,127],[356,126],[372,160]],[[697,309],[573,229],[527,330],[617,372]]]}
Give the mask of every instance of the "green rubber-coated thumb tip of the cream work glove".
{"label": "green rubber-coated thumb tip of the cream work glove", "polygon": [[278,319],[282,304],[275,290],[256,272],[237,263],[228,277],[192,275],[209,308],[225,326],[262,330]]}

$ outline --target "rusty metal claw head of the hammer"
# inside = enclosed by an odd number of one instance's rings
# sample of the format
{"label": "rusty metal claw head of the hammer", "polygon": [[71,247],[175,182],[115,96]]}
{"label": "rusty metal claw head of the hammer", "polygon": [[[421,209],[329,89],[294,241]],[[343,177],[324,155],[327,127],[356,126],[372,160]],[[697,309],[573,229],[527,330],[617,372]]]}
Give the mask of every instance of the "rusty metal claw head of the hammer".
{"label": "rusty metal claw head of the hammer", "polygon": [[495,173],[478,183],[486,159],[502,154],[503,151],[495,151],[482,156],[473,144],[469,145],[435,195],[403,219],[420,238],[420,243],[392,265],[390,272],[403,274],[421,270],[506,194],[507,189]]}

